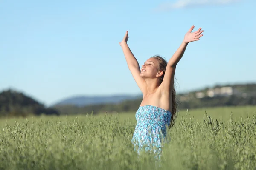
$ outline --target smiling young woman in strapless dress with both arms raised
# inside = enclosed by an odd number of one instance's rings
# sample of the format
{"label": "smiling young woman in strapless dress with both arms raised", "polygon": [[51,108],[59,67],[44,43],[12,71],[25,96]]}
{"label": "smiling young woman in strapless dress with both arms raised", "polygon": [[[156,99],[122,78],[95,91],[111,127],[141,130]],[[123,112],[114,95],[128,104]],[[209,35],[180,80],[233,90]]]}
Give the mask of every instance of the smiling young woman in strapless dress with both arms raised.
{"label": "smiling young woman in strapless dress with both arms raised", "polygon": [[131,142],[140,154],[141,150],[161,154],[166,137],[166,125],[174,125],[177,104],[175,101],[174,74],[177,63],[183,56],[189,42],[198,41],[201,28],[192,32],[192,26],[175,54],[166,62],[160,56],[149,58],[140,69],[137,59],[127,45],[128,31],[121,45],[128,68],[143,93],[143,100],[136,112],[137,125]]}

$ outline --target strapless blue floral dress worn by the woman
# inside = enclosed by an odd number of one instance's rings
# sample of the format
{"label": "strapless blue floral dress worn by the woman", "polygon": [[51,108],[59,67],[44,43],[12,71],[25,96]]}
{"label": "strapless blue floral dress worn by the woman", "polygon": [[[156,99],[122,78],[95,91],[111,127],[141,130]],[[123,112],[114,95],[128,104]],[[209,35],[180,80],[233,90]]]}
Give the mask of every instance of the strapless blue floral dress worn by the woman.
{"label": "strapless blue floral dress worn by the woman", "polygon": [[170,125],[171,112],[152,105],[140,106],[135,117],[137,125],[131,142],[134,150],[161,155],[162,144],[166,142],[166,127]]}

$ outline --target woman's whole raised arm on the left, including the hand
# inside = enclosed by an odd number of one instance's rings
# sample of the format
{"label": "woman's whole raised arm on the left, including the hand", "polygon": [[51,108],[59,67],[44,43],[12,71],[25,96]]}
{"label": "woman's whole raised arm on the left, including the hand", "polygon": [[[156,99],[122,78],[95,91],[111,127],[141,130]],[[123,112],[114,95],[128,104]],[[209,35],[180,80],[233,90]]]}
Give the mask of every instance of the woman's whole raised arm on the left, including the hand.
{"label": "woman's whole raised arm on the left, including the hand", "polygon": [[142,77],[140,77],[140,65],[139,65],[137,59],[132,54],[132,52],[127,44],[128,38],[129,38],[128,31],[126,31],[125,37],[123,38],[122,42],[119,42],[119,45],[122,47],[122,51],[125,55],[125,59],[126,59],[128,68],[131,71],[131,74],[134,77],[135,82],[139,86],[142,93],[145,94],[147,85],[146,85],[145,80]]}

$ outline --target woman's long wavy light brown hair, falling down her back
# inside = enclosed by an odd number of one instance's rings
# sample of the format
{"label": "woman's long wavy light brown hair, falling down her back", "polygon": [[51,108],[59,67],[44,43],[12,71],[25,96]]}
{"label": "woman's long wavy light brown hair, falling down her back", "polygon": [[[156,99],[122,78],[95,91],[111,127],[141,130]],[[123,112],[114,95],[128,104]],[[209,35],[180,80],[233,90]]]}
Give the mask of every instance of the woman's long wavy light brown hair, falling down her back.
{"label": "woman's long wavy light brown hair, falling down her back", "polygon": [[[163,58],[160,57],[158,55],[155,55],[151,58],[155,58],[157,59],[159,65],[158,65],[158,70],[159,71],[163,71],[163,75],[160,77],[160,84],[163,82],[163,77],[166,71],[166,67],[167,67],[167,61]],[[171,122],[169,125],[169,128],[171,128],[174,125],[174,120],[176,119],[176,113],[177,113],[177,100],[176,100],[176,91],[173,85],[172,88],[172,110],[171,110],[172,116],[171,116]]]}

